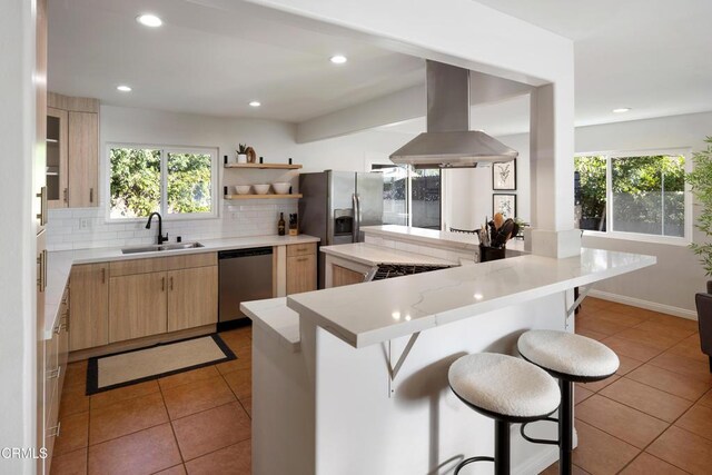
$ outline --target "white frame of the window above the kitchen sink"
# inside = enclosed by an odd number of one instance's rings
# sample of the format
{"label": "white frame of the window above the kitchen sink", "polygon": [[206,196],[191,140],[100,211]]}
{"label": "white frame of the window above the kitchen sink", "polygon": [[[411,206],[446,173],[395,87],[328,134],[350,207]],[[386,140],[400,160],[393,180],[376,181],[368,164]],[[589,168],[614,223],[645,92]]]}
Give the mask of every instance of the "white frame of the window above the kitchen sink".
{"label": "white frame of the window above the kitchen sink", "polygon": [[[131,142],[107,142],[106,144],[106,177],[105,177],[105,222],[142,222],[146,217],[141,218],[111,218],[111,149],[113,148],[134,148],[134,149],[154,149],[160,150],[160,212],[164,221],[186,221],[216,219],[219,217],[219,148],[218,147],[199,147],[199,146],[169,146],[157,144],[131,144]],[[210,212],[168,212],[168,154],[206,154],[210,155]]]}

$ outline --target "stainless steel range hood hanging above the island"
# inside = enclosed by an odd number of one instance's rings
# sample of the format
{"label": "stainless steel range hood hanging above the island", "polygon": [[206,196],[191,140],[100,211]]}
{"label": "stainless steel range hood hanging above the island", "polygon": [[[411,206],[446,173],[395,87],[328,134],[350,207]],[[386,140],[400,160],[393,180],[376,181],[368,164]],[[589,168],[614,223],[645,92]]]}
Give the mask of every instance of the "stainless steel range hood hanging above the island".
{"label": "stainless steel range hood hanging above the island", "polygon": [[469,130],[469,70],[427,60],[427,132],[390,155],[415,168],[474,168],[513,160],[516,150]]}

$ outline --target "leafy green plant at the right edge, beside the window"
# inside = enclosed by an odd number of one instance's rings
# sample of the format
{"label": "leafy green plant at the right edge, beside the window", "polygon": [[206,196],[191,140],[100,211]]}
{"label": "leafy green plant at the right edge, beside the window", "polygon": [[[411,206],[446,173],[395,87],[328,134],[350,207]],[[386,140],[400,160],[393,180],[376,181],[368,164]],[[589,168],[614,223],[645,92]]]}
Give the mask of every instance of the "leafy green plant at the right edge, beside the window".
{"label": "leafy green plant at the right edge, beside the window", "polygon": [[[704,140],[708,148],[692,154],[694,169],[686,175],[692,195],[702,208],[695,228],[712,236],[712,137]],[[700,263],[708,276],[712,276],[712,243],[692,243],[690,248],[700,256]],[[708,293],[712,294],[712,280],[708,280]]]}

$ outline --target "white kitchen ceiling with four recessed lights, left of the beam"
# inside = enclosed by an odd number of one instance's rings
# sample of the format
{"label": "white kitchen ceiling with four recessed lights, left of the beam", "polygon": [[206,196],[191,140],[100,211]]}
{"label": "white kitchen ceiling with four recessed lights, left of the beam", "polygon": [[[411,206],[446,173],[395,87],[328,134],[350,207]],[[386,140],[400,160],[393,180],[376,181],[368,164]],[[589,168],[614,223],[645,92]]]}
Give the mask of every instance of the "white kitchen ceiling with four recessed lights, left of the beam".
{"label": "white kitchen ceiling with four recessed lights, left of the beam", "polygon": [[[247,8],[52,0],[49,88],[109,105],[298,122],[423,82],[418,58],[260,19]],[[165,24],[140,26],[142,12]],[[348,62],[332,65],[335,53]],[[120,83],[134,91],[117,91]],[[254,99],[259,109],[248,106]]]}

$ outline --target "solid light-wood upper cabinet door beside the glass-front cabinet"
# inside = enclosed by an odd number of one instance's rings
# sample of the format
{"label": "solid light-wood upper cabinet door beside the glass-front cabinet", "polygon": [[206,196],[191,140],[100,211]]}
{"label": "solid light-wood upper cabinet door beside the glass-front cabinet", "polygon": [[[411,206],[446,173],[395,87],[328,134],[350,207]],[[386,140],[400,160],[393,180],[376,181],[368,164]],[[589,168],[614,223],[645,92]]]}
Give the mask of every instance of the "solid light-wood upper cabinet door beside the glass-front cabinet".
{"label": "solid light-wood upper cabinet door beside the glass-front cabinet", "polygon": [[69,112],[69,207],[98,206],[99,115]]}

